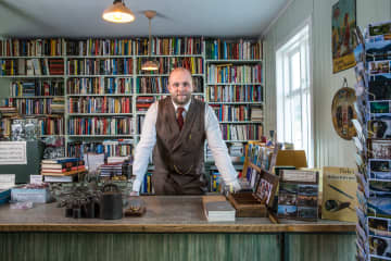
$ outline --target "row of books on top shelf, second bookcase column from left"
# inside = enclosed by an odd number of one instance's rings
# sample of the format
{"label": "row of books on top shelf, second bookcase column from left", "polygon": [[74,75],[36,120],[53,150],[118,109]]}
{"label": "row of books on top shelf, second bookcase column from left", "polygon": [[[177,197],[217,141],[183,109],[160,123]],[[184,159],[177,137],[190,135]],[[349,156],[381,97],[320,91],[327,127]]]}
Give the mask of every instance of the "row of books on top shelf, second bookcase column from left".
{"label": "row of books on top shelf, second bookcase column from left", "polygon": [[131,55],[133,39],[67,40],[67,55]]}

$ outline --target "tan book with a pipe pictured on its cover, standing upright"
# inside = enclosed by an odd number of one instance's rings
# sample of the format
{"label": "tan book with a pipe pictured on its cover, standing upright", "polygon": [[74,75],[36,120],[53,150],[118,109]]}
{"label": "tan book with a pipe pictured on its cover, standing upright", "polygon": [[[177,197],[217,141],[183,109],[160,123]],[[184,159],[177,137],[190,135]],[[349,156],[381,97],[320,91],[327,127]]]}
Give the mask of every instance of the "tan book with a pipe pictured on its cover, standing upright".
{"label": "tan book with a pipe pictured on its cover, standing upright", "polygon": [[354,169],[325,166],[321,219],[357,222],[357,182]]}

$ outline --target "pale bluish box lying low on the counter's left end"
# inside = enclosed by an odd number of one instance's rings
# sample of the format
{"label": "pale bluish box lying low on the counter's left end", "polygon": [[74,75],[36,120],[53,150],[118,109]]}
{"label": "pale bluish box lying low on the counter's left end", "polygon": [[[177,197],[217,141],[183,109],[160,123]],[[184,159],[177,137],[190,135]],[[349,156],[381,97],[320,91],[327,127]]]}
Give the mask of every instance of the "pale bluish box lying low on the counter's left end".
{"label": "pale bluish box lying low on the counter's left end", "polygon": [[12,201],[31,201],[34,203],[47,203],[51,200],[48,188],[12,188]]}

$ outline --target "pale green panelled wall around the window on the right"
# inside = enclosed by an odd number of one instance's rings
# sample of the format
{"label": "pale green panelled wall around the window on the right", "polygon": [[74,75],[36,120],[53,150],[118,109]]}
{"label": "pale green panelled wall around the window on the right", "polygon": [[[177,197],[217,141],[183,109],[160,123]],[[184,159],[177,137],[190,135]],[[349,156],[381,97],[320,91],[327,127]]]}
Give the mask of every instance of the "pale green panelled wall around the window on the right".
{"label": "pale green panelled wall around the window on the right", "polygon": [[[264,36],[266,119],[265,129],[276,129],[276,79],[275,51],[304,21],[312,22],[313,52],[313,116],[315,165],[354,166],[353,141],[340,138],[332,127],[331,101],[333,95],[348,78],[354,86],[353,69],[332,74],[331,61],[331,9],[337,0],[293,0],[286,12],[278,17]],[[390,0],[356,0],[357,25],[364,27],[370,22],[391,20]]]}

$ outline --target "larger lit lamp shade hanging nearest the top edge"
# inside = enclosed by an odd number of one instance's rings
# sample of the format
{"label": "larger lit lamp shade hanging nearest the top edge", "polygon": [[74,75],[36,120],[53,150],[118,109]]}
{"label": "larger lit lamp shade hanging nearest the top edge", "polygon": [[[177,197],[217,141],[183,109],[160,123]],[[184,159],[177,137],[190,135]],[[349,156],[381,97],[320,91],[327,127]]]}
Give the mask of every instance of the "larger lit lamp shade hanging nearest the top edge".
{"label": "larger lit lamp shade hanging nearest the top edge", "polygon": [[122,1],[114,1],[102,14],[103,20],[112,23],[131,23],[135,14]]}

